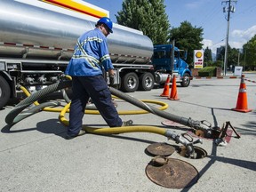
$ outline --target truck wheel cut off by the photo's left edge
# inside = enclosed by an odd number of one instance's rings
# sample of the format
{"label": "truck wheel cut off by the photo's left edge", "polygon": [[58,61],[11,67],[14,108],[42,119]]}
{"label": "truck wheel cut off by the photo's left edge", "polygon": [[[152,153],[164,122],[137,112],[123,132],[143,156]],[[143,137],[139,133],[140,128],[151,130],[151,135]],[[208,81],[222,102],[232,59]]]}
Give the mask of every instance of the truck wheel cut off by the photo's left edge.
{"label": "truck wheel cut off by the photo's left edge", "polygon": [[0,76],[0,108],[3,108],[11,96],[11,89],[3,76]]}

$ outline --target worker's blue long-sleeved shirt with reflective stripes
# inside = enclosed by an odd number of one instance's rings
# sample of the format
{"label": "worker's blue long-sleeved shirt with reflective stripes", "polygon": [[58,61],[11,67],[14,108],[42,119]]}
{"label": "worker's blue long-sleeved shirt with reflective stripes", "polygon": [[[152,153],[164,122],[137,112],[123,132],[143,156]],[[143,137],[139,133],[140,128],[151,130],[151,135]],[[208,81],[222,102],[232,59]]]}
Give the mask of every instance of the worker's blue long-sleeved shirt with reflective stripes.
{"label": "worker's blue long-sleeved shirt with reflective stripes", "polygon": [[95,28],[84,33],[77,39],[75,51],[65,74],[68,76],[97,76],[102,74],[101,68],[106,71],[113,68],[108,53],[107,38]]}

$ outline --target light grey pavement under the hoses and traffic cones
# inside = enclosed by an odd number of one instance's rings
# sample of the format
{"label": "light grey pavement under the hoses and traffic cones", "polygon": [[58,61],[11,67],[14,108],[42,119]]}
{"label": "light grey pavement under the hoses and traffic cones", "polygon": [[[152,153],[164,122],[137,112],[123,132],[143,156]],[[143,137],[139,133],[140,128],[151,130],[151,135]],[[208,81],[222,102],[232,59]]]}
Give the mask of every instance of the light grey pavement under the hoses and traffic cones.
{"label": "light grey pavement under the hoses and traffic cones", "polygon": [[[169,107],[165,112],[196,121],[205,120],[212,127],[222,127],[230,122],[241,135],[237,139],[233,132],[223,146],[217,146],[215,140],[203,139],[203,144],[195,145],[206,151],[207,156],[202,158],[187,158],[177,151],[168,156],[193,166],[198,172],[199,179],[188,188],[166,188],[147,176],[146,168],[154,157],[148,155],[148,146],[166,142],[180,147],[163,135],[150,132],[88,133],[65,140],[67,127],[60,123],[58,112],[42,111],[12,126],[5,124],[4,118],[12,111],[14,103],[0,110],[0,191],[255,191],[256,74],[244,75],[246,104],[252,109],[248,113],[232,110],[236,108],[240,78],[193,79],[187,88],[177,84],[180,100],[160,97],[163,87],[150,92],[128,93],[138,100],[167,103]],[[60,101],[64,106],[64,100]],[[124,100],[116,100],[116,103],[117,110],[140,110]],[[150,105],[158,108],[156,104]],[[162,124],[166,119],[153,114],[121,117],[132,119],[135,125],[154,125],[179,135],[190,130],[180,124],[166,127]],[[107,127],[99,115],[85,114],[84,124]],[[179,178],[182,172],[177,167],[173,170],[171,176],[176,174],[175,179],[182,183],[184,179]]]}

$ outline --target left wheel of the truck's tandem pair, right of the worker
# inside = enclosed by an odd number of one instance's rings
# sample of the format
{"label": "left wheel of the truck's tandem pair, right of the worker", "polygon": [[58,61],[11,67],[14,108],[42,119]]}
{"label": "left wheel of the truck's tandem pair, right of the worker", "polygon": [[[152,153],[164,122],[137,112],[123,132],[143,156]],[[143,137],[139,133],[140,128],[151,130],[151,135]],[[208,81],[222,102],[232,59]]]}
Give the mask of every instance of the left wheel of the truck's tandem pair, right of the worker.
{"label": "left wheel of the truck's tandem pair, right of the worker", "polygon": [[122,78],[121,90],[123,92],[135,92],[139,87],[139,77],[136,73],[128,73]]}

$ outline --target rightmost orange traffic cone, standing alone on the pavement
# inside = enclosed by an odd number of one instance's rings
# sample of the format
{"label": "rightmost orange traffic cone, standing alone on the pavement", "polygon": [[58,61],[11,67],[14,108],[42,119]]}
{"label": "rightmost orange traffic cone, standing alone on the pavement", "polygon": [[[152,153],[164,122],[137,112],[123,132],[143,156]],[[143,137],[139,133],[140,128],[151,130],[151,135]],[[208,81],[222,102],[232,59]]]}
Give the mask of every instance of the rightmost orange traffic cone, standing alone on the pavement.
{"label": "rightmost orange traffic cone, standing alone on the pavement", "polygon": [[244,113],[252,111],[252,109],[248,109],[247,107],[247,93],[246,93],[246,85],[244,82],[244,75],[241,76],[241,84],[240,84],[239,93],[237,97],[236,108],[232,108],[232,110],[236,110]]}

